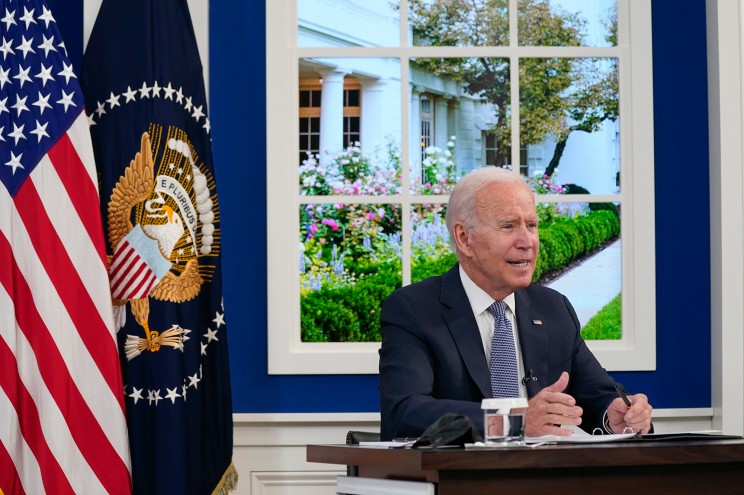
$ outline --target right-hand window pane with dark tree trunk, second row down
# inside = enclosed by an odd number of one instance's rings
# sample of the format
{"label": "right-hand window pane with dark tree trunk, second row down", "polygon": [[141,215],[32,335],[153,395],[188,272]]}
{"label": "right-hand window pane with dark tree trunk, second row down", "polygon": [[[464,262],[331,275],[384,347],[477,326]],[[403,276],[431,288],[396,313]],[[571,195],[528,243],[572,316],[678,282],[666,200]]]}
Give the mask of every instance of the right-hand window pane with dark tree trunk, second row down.
{"label": "right-hand window pane with dark tree trunk, second row down", "polygon": [[520,59],[525,175],[620,191],[617,59]]}

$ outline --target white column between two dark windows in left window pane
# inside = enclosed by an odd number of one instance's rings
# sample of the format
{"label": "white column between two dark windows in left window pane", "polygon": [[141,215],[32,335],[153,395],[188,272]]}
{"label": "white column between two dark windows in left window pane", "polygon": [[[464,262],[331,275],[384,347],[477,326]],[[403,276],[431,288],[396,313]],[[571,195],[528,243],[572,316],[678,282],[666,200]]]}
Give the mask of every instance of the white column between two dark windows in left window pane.
{"label": "white column between two dark windows in left window pane", "polygon": [[344,143],[344,70],[321,72],[323,88],[320,96],[320,157],[338,153]]}

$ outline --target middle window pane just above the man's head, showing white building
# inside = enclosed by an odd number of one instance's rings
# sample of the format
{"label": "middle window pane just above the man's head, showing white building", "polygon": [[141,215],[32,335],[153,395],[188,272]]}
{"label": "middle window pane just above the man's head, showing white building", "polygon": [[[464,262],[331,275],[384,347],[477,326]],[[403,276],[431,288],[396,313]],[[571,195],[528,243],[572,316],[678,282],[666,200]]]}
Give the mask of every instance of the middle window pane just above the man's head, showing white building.
{"label": "middle window pane just above the man's head, showing white building", "polygon": [[511,163],[509,61],[410,62],[411,191],[447,194],[459,177]]}

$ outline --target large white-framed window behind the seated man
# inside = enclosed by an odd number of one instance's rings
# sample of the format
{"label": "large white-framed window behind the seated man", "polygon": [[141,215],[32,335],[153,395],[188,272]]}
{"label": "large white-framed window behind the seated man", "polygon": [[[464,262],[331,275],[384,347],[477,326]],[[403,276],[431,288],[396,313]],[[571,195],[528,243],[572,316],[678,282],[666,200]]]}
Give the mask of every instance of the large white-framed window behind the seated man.
{"label": "large white-framed window behind the seated man", "polygon": [[[641,254],[654,253],[650,2],[467,2],[492,7],[479,16],[493,29],[447,46],[416,27],[435,4],[267,3],[269,372],[376,373],[379,343],[365,332],[387,294],[364,281],[418,280],[433,269],[421,253],[446,266],[447,194],[491,162],[535,179],[546,215],[619,206],[622,334],[588,345],[610,370],[653,369],[654,260]],[[609,25],[597,20],[608,6]],[[571,29],[545,36],[539,9]],[[571,38],[585,15],[586,35]],[[307,152],[298,178],[291,156]],[[344,292],[352,285],[368,292]],[[319,297],[323,287],[334,290]]]}

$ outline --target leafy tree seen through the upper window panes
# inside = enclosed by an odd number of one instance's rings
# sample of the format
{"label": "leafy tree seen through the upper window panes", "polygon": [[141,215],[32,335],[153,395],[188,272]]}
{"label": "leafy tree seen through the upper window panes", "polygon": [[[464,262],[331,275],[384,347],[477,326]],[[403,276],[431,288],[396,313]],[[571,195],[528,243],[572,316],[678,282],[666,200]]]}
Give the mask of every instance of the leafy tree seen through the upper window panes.
{"label": "leafy tree seen through the upper window panes", "polygon": [[[504,46],[509,42],[508,0],[409,0],[414,42],[432,46]],[[608,41],[616,42],[617,12],[608,13]],[[581,46],[586,21],[551,7],[547,0],[520,0],[519,44]],[[503,58],[418,59],[427,72],[463,83],[465,91],[493,105],[497,162],[511,162],[509,62]],[[546,169],[552,175],[569,135],[595,132],[618,117],[617,62],[592,58],[522,58],[522,146],[556,141]]]}

